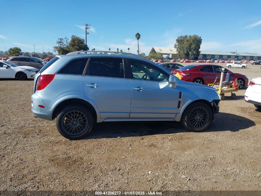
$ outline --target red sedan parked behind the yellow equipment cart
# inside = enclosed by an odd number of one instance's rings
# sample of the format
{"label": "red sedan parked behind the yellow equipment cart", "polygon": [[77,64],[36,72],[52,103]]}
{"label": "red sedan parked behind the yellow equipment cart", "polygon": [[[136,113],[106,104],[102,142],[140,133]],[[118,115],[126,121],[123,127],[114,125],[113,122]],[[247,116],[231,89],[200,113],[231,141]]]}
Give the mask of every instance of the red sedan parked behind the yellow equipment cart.
{"label": "red sedan parked behind the yellow equipment cart", "polygon": [[[187,65],[177,70],[172,70],[171,73],[175,75],[177,72],[181,75],[181,80],[187,82],[195,82],[198,84],[208,85],[212,84],[218,75],[221,75],[219,65]],[[226,74],[230,73],[230,81],[238,79],[239,89],[243,86],[248,86],[248,78],[240,73],[233,73],[225,68],[224,81]],[[218,81],[218,79],[217,79]]]}

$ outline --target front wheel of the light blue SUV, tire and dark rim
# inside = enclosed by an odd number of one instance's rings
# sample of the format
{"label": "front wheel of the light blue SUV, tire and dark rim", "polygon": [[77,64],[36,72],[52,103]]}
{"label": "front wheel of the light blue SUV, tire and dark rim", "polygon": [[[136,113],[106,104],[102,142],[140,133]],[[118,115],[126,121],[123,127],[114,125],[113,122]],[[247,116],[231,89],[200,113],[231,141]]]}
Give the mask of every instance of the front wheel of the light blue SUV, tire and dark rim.
{"label": "front wheel of the light blue SUV, tire and dark rim", "polygon": [[200,132],[208,128],[212,119],[212,110],[206,103],[194,102],[183,112],[181,123],[189,131]]}

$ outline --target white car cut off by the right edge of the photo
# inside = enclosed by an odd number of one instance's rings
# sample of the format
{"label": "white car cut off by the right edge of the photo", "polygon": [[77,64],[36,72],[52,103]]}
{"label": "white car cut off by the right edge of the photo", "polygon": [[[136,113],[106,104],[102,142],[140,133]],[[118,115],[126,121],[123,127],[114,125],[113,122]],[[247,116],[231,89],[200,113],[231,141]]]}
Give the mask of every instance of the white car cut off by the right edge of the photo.
{"label": "white car cut off by the right edge of the photo", "polygon": [[261,110],[261,77],[254,78],[250,81],[246,89],[245,101],[253,103],[257,109]]}

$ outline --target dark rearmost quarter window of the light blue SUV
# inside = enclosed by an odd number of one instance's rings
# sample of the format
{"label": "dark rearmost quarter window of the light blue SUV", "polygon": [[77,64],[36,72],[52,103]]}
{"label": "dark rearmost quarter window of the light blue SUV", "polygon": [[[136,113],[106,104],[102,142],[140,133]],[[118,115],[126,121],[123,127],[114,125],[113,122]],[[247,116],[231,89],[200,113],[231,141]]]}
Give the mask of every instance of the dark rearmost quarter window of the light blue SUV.
{"label": "dark rearmost quarter window of the light blue SUV", "polygon": [[[82,75],[88,59],[75,59],[69,62],[58,73]],[[40,70],[41,71],[41,70]]]}

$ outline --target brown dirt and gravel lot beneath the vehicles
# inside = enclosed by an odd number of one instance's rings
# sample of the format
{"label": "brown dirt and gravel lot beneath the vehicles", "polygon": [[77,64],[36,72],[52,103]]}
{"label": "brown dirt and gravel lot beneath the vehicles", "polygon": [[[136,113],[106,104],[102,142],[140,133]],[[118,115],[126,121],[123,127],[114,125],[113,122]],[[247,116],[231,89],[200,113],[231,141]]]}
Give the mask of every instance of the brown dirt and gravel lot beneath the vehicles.
{"label": "brown dirt and gravel lot beneath the vehicles", "polygon": [[[260,65],[230,70],[261,76]],[[179,122],[106,122],[69,141],[55,121],[33,117],[32,84],[0,80],[0,190],[260,190],[261,112],[244,101],[246,89],[221,102],[203,133]]]}

